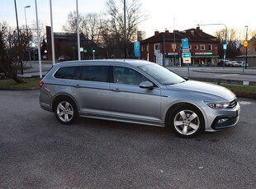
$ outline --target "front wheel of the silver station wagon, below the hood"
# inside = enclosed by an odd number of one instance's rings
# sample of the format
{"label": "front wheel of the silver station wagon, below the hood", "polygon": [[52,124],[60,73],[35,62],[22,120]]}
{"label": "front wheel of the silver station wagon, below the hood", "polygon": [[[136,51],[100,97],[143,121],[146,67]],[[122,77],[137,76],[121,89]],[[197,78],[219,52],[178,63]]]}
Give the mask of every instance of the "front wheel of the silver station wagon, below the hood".
{"label": "front wheel of the silver station wagon, below the hood", "polygon": [[183,104],[170,113],[170,127],[176,135],[192,138],[203,131],[205,121],[198,108],[191,104]]}

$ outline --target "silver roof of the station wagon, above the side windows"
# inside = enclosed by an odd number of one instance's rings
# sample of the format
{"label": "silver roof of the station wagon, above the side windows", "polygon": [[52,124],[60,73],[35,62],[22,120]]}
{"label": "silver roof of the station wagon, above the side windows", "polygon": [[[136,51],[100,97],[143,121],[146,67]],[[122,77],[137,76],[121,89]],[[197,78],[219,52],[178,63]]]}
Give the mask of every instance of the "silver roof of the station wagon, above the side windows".
{"label": "silver roof of the station wagon, above the side windows", "polygon": [[147,65],[149,61],[138,59],[94,59],[94,60],[82,60],[82,61],[66,61],[55,64],[55,67],[69,67],[69,66],[83,66],[83,65],[121,65],[129,64],[133,67],[140,67]]}

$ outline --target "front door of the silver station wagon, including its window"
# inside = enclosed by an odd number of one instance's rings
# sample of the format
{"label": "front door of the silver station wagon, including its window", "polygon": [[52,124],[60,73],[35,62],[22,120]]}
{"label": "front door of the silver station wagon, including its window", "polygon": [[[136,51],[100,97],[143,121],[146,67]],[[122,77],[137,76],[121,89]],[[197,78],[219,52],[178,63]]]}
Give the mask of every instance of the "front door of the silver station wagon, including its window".
{"label": "front door of the silver station wagon, including its window", "polygon": [[149,78],[130,67],[112,67],[111,117],[122,121],[160,124],[161,90],[140,88]]}

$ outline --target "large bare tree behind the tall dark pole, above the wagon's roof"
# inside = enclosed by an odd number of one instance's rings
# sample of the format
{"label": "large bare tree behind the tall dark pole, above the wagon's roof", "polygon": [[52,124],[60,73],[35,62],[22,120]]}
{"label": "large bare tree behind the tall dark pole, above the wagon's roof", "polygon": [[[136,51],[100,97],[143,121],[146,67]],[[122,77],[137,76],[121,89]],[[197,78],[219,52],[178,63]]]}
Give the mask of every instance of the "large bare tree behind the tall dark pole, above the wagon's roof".
{"label": "large bare tree behind the tall dark pole, above the wagon's roof", "polygon": [[140,12],[141,3],[138,0],[126,1],[126,23],[124,20],[124,0],[120,0],[116,5],[114,0],[107,0],[106,25],[103,31],[103,39],[109,51],[118,57],[123,57],[125,43],[125,25],[126,25],[126,43],[128,44],[128,53],[131,54],[132,42],[138,30],[138,25],[145,21],[145,16]]}

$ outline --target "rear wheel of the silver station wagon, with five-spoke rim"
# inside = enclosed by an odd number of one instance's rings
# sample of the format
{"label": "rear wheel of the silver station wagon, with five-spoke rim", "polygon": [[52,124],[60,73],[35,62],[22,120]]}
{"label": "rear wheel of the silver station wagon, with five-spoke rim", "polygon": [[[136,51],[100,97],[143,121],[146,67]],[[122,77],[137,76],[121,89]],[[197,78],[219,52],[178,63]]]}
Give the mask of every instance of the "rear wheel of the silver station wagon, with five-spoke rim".
{"label": "rear wheel of the silver station wagon, with five-spoke rim", "polygon": [[78,109],[71,99],[58,99],[55,104],[55,117],[62,124],[69,125],[78,118]]}

